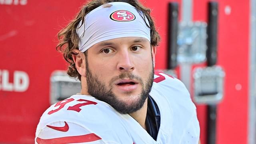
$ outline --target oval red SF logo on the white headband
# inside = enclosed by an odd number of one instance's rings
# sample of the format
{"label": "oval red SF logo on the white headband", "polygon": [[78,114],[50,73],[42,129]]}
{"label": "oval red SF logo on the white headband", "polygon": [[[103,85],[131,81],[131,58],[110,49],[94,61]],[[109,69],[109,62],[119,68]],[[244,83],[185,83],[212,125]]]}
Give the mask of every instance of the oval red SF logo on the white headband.
{"label": "oval red SF logo on the white headband", "polygon": [[134,14],[128,10],[117,10],[110,14],[109,18],[117,22],[130,22],[135,20]]}

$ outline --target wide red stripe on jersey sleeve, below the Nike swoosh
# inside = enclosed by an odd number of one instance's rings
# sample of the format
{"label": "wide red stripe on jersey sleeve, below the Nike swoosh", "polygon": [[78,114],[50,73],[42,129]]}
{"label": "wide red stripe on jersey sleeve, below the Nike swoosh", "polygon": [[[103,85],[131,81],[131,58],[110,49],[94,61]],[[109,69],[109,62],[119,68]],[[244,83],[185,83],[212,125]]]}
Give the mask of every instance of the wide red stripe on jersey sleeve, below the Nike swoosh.
{"label": "wide red stripe on jersey sleeve, below the Nike swoosh", "polygon": [[94,133],[81,135],[81,136],[66,136],[61,138],[42,139],[37,137],[36,142],[38,144],[70,144],[70,143],[82,143],[82,142],[93,142],[101,140],[100,136]]}

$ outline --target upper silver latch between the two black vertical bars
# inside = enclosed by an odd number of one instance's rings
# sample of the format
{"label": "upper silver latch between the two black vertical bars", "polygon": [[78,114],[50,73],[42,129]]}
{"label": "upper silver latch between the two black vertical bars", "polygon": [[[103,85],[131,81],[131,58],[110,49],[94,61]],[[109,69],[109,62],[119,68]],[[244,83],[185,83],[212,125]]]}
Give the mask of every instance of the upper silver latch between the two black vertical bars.
{"label": "upper silver latch between the two black vertical bars", "polygon": [[200,63],[206,60],[206,22],[182,22],[178,32],[178,63]]}

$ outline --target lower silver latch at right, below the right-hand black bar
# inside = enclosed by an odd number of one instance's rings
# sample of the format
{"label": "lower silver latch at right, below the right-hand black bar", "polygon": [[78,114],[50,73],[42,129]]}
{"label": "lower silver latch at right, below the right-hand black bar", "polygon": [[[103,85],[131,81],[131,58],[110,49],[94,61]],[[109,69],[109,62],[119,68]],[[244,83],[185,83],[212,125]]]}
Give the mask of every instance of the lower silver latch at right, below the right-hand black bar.
{"label": "lower silver latch at right, below the right-hand black bar", "polygon": [[220,66],[195,68],[194,102],[216,104],[223,99],[225,72]]}

